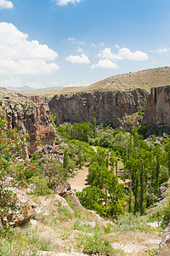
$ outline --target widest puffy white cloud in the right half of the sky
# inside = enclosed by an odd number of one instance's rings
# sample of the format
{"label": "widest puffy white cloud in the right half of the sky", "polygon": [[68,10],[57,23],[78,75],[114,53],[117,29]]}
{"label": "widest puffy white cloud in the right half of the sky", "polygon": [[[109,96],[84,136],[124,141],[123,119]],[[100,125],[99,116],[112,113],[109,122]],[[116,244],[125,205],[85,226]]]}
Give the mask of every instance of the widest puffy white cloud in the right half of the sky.
{"label": "widest puffy white cloud in the right half of the sky", "polygon": [[117,54],[111,52],[111,48],[105,48],[99,52],[98,56],[103,59],[113,60],[133,60],[133,61],[145,61],[148,59],[148,55],[140,50],[132,52],[128,48],[119,49]]}

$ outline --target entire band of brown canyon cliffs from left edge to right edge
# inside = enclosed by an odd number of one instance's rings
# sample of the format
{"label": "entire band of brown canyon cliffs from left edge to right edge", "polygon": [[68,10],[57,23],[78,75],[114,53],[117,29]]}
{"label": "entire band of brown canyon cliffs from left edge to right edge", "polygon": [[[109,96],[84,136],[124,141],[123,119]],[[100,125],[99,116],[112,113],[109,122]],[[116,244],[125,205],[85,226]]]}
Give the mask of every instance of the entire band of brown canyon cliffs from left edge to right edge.
{"label": "entire band of brown canyon cliffs from left edge to right edge", "polygon": [[[123,120],[145,108],[142,124],[148,131],[156,128],[170,131],[170,85],[125,91],[94,91],[54,96],[51,100],[42,96],[22,96],[3,88],[0,89],[1,108],[8,120],[8,128],[16,128],[21,134],[28,134],[28,152],[37,150],[38,141],[54,145],[56,125],[63,122],[92,122],[129,128]],[[51,113],[56,119],[51,120]]]}

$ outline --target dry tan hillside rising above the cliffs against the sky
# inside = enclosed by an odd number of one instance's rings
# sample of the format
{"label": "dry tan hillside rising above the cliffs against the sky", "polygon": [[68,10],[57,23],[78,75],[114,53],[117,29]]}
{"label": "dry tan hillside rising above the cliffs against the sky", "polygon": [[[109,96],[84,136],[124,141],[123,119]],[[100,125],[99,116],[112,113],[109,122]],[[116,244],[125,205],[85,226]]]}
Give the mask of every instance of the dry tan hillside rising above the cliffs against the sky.
{"label": "dry tan hillside rising above the cliffs against the sky", "polygon": [[[142,70],[135,73],[123,73],[111,76],[86,87],[65,87],[60,90],[42,90],[38,91],[40,96],[65,95],[68,93],[77,93],[82,91],[116,91],[127,90],[129,88],[142,88],[150,90],[152,87],[170,84],[170,67],[157,67]],[[26,96],[37,95],[36,91],[22,91]]]}

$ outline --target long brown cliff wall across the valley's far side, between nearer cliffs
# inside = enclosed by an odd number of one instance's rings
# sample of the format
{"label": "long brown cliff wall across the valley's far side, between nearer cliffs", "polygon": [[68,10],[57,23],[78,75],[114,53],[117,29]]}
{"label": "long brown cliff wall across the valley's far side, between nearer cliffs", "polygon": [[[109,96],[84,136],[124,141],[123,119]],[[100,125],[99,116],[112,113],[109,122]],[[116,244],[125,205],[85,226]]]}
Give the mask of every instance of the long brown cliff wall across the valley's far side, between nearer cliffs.
{"label": "long brown cliff wall across the valley's far side, between nearer cliffs", "polygon": [[118,126],[117,119],[145,108],[147,92],[141,89],[127,91],[94,91],[72,96],[54,96],[49,102],[51,112],[56,114],[55,123],[65,121],[92,122]]}

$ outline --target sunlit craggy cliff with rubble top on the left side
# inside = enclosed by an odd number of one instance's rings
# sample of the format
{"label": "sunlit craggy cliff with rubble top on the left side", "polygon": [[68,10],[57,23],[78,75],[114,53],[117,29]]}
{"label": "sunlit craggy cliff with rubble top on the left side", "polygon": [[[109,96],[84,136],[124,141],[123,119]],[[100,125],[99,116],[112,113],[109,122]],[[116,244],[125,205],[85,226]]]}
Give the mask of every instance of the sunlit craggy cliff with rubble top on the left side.
{"label": "sunlit craggy cliff with rubble top on the left side", "polygon": [[37,140],[53,145],[56,131],[50,118],[48,104],[34,103],[20,94],[0,89],[1,108],[8,120],[8,128],[17,128],[21,134],[29,135],[30,153],[37,149]]}

